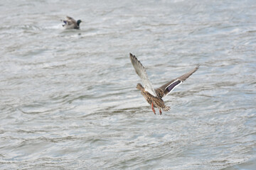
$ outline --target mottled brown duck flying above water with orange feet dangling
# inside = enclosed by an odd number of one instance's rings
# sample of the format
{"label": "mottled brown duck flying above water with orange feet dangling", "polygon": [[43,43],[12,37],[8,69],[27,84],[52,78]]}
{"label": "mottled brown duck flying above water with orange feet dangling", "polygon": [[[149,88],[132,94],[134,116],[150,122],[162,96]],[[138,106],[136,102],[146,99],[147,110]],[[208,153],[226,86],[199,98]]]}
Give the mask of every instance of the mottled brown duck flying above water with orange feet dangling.
{"label": "mottled brown duck flying above water with orange feet dangling", "polygon": [[132,55],[131,53],[129,54],[130,60],[132,62],[132,65],[135,69],[135,72],[139,75],[139,77],[142,79],[142,84],[137,84],[136,88],[141,91],[142,96],[146,99],[146,101],[151,105],[151,109],[156,114],[156,111],[154,108],[159,109],[159,114],[161,115],[161,111],[169,111],[170,107],[166,106],[163,101],[163,97],[167,96],[168,94],[171,93],[172,90],[179,84],[182,84],[183,81],[188,79],[188,77],[191,76],[196,70],[198,70],[199,65],[191,70],[191,72],[188,72],[186,74],[183,74],[181,77],[178,77],[176,79],[173,79],[163,86],[159,87],[158,89],[154,89],[151,81],[149,81],[149,78],[146,74],[146,69],[142,65],[141,62],[135,57],[135,55]]}

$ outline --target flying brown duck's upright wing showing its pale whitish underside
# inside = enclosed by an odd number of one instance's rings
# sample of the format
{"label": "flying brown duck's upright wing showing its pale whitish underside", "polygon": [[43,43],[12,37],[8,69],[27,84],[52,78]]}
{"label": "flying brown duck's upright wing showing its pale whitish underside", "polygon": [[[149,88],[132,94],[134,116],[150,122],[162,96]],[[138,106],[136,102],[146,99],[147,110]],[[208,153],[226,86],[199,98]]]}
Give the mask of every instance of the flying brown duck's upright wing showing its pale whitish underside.
{"label": "flying brown duck's upright wing showing its pale whitish underside", "polygon": [[139,62],[137,57],[135,57],[135,55],[132,55],[131,53],[129,55],[130,55],[130,60],[132,62],[132,65],[135,69],[135,72],[142,79],[142,84],[144,85],[145,90],[148,91],[149,94],[151,94],[153,96],[156,96],[154,88],[153,88],[153,86],[152,86],[151,82],[149,81],[149,78],[146,74],[146,69],[143,67],[142,63]]}

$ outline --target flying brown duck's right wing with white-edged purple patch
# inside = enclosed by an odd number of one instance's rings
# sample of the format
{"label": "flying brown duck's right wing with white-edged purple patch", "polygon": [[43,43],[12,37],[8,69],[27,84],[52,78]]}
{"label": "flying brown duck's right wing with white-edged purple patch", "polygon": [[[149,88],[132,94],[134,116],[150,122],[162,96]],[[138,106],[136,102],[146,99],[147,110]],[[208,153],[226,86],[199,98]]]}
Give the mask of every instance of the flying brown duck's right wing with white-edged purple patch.
{"label": "flying brown duck's right wing with white-edged purple patch", "polygon": [[191,70],[191,72],[188,72],[186,74],[183,74],[181,77],[178,77],[176,79],[173,79],[169,81],[168,83],[164,84],[163,86],[159,87],[159,89],[156,89],[156,94],[158,94],[159,97],[163,98],[164,96],[167,96],[171,93],[174,88],[180,84],[183,83],[188,77],[190,77],[196,70],[198,70],[199,65]]}

